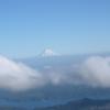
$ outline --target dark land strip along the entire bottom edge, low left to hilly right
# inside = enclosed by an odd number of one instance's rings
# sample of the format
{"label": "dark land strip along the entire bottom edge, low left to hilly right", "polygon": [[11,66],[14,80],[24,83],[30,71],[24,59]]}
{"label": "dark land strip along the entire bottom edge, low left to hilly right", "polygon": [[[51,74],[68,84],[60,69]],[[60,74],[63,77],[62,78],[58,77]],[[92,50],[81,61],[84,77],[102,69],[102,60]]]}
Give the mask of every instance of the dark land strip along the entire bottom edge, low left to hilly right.
{"label": "dark land strip along the entire bottom edge, low left to hilly right", "polygon": [[22,108],[12,106],[2,106],[0,110],[110,110],[110,100],[102,99],[81,99],[77,101],[69,101],[65,105],[57,105],[54,107],[44,108]]}

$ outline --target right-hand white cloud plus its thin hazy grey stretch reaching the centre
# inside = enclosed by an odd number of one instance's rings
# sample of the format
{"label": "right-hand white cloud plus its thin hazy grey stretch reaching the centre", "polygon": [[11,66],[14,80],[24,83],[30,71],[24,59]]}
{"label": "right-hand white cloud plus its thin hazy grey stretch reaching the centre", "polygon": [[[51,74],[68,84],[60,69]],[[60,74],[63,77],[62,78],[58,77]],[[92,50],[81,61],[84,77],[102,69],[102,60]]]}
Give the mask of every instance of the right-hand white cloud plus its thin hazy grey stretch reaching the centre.
{"label": "right-hand white cloud plus its thin hazy grey stretch reaching the centre", "polygon": [[110,57],[87,57],[67,69],[50,68],[46,76],[53,85],[70,84],[110,88]]}

